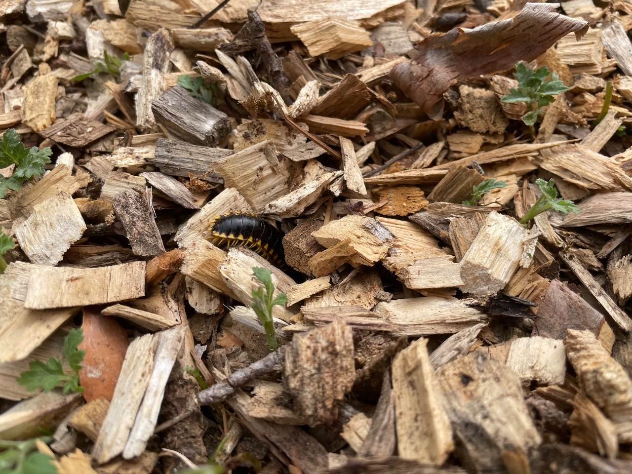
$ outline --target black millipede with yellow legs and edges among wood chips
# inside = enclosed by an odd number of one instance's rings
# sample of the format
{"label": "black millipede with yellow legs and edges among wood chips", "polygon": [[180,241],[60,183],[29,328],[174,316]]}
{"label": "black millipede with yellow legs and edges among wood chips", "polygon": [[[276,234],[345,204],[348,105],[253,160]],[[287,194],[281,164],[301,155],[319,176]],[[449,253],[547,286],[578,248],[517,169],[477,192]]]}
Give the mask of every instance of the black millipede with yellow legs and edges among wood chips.
{"label": "black millipede with yellow legs and edges among wood chips", "polygon": [[209,231],[208,240],[219,248],[249,247],[277,267],[285,267],[283,233],[255,214],[227,212],[216,216]]}

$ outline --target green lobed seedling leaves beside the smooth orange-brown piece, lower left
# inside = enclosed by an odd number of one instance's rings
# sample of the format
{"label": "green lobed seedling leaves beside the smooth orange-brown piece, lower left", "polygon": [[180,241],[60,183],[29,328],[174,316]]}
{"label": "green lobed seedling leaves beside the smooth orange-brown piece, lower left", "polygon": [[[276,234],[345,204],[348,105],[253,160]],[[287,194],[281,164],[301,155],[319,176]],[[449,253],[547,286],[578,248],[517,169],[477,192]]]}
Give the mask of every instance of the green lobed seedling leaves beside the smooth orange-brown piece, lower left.
{"label": "green lobed seedling leaves beside the smooth orange-brown piece, lower left", "polygon": [[68,375],[61,367],[58,358],[51,357],[48,362],[34,360],[28,364],[26,372],[22,372],[18,377],[18,384],[27,386],[28,391],[44,389],[49,392],[55,387],[63,386],[64,395],[68,392],[83,392],[83,387],[79,386],[79,370],[82,366],[85,351],[77,346],[83,341],[83,329],[71,329],[64,339],[64,357],[73,370],[73,374]]}

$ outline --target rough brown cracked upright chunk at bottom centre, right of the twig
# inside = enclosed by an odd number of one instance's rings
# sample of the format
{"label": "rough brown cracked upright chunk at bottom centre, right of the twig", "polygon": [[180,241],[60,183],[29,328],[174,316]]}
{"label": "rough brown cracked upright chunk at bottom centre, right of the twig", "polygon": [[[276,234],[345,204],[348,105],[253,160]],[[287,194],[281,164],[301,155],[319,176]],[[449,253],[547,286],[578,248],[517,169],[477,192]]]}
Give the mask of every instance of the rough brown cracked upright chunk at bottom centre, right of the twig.
{"label": "rough brown cracked upright chunk at bottom centre, right of the twig", "polygon": [[334,422],[355,380],[351,327],[335,321],[296,335],[286,352],[285,377],[297,411],[310,425]]}

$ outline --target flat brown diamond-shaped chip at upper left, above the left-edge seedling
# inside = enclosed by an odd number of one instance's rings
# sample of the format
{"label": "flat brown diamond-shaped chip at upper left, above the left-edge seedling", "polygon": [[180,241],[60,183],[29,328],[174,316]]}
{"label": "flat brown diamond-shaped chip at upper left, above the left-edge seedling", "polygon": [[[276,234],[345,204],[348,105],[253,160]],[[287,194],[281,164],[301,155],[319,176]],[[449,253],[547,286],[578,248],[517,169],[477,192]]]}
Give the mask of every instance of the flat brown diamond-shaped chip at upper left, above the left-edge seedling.
{"label": "flat brown diamond-shaped chip at upper left, above the left-edge seedling", "polygon": [[113,126],[104,125],[96,120],[88,120],[83,114],[77,113],[55,122],[39,134],[56,143],[83,148],[115,130]]}

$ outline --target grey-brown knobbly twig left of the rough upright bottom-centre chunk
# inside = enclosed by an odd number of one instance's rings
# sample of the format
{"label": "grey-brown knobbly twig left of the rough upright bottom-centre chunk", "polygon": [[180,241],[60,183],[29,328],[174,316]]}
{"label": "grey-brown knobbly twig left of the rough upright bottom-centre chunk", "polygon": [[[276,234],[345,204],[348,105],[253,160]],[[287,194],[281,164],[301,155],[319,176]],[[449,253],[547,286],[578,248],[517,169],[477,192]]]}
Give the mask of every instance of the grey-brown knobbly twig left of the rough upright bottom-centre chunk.
{"label": "grey-brown knobbly twig left of the rough upright bottom-centre chunk", "polygon": [[289,344],[281,346],[264,358],[248,365],[248,367],[236,370],[236,372],[233,372],[233,374],[229,375],[225,380],[218,382],[206,390],[198,392],[195,396],[197,403],[200,405],[210,405],[220,402],[231,395],[235,389],[245,386],[250,380],[256,379],[259,375],[274,372],[274,366],[283,362],[288,345]]}

